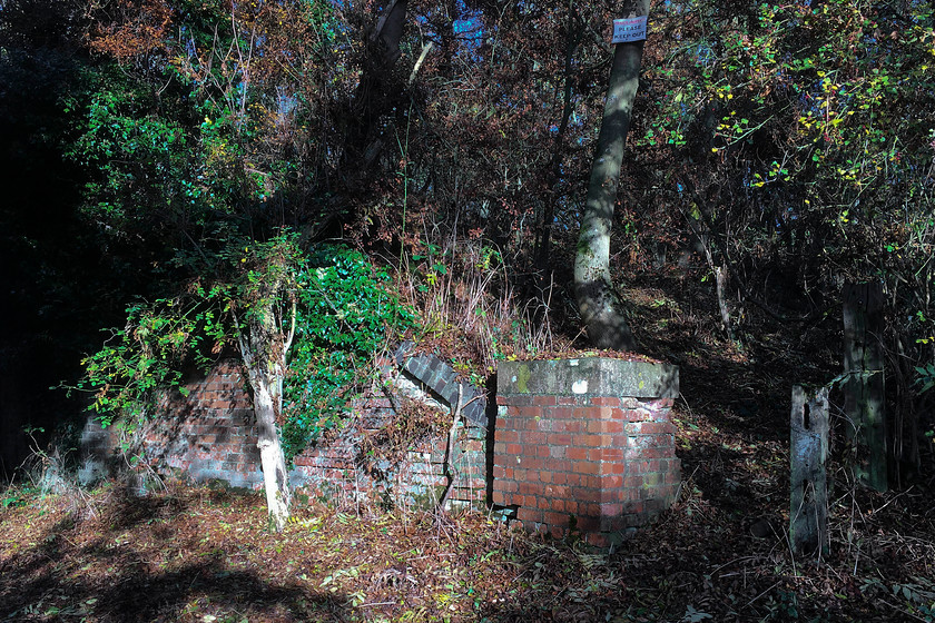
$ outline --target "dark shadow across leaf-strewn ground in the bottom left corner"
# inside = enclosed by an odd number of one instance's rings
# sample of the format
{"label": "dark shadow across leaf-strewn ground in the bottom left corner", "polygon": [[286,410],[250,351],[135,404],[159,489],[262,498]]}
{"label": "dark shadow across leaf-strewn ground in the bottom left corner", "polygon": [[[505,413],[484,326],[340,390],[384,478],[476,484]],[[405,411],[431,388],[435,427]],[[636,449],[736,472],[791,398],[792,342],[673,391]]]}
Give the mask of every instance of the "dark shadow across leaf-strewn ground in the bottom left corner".
{"label": "dark shadow across leaf-strewn ground in the bottom left corner", "polygon": [[[165,523],[189,513],[183,501],[115,495],[98,513],[87,523],[73,513],[51,523],[2,564],[0,621],[346,620],[342,593],[273,583],[264,578],[269,570],[245,567],[224,547],[197,551],[200,534]],[[144,528],[151,541],[135,542]]]}

